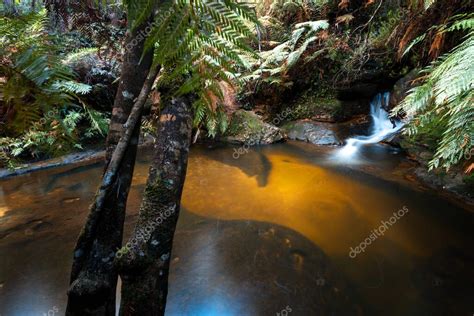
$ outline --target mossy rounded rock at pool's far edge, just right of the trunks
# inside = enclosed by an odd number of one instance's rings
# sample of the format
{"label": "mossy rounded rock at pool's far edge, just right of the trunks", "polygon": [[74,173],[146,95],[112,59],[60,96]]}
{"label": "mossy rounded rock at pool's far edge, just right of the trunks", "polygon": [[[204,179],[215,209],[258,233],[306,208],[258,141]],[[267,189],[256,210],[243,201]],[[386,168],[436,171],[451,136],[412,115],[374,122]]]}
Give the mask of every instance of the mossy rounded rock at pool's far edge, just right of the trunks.
{"label": "mossy rounded rock at pool's far edge, just right of the trunks", "polygon": [[238,110],[232,115],[229,128],[220,140],[232,144],[266,145],[283,138],[284,134],[278,127],[265,123],[254,112]]}

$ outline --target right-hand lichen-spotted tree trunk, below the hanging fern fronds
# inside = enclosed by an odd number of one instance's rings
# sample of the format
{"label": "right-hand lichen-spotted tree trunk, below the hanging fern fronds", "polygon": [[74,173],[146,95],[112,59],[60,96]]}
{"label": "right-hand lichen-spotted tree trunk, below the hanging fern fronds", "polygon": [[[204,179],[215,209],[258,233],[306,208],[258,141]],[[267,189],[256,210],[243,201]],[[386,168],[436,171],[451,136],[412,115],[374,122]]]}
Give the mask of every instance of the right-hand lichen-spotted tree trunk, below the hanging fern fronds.
{"label": "right-hand lichen-spotted tree trunk, below the hanging fern fronds", "polygon": [[171,100],[160,115],[137,225],[129,242],[117,252],[122,279],[120,315],[164,315],[191,131],[189,100]]}

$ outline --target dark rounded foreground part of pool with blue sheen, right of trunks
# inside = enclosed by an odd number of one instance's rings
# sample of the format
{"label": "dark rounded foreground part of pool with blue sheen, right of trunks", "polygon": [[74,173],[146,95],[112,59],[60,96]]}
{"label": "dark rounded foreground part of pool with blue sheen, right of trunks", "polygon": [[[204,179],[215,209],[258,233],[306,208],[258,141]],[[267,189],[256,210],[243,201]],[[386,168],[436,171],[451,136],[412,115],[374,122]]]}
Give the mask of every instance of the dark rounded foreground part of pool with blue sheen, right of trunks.
{"label": "dark rounded foreground part of pool with blue sheen, right of trunks", "polygon": [[[170,315],[201,310],[218,315],[366,314],[350,281],[300,233],[265,222],[189,215],[180,222],[173,245],[181,260],[171,268]],[[197,228],[193,223],[198,220]],[[200,250],[191,251],[190,245]],[[216,252],[219,264],[203,264]]]}

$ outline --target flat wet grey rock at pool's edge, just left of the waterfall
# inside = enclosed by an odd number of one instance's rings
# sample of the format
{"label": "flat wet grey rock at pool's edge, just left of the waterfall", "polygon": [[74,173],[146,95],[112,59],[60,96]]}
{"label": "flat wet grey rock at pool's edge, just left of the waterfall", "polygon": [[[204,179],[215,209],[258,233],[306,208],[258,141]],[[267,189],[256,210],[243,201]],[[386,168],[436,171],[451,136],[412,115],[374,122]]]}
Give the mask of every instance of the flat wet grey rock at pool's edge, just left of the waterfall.
{"label": "flat wet grey rock at pool's edge, just left of the waterfall", "polygon": [[302,140],[315,145],[339,145],[335,125],[330,123],[300,120],[285,124],[282,129],[291,140]]}

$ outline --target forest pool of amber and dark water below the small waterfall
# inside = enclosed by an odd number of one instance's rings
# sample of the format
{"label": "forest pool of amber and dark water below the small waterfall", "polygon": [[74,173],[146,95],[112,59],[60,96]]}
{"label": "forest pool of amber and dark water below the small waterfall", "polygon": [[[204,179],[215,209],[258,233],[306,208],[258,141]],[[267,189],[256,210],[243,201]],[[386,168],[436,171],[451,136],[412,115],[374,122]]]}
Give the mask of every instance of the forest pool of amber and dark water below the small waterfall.
{"label": "forest pool of amber and dark water below the small waterfall", "polygon": [[[411,181],[389,147],[351,165],[333,151],[289,142],[235,159],[234,148],[193,147],[167,315],[472,315],[472,208]],[[127,232],[149,156],[138,158]],[[0,315],[64,314],[102,168],[0,181]]]}

